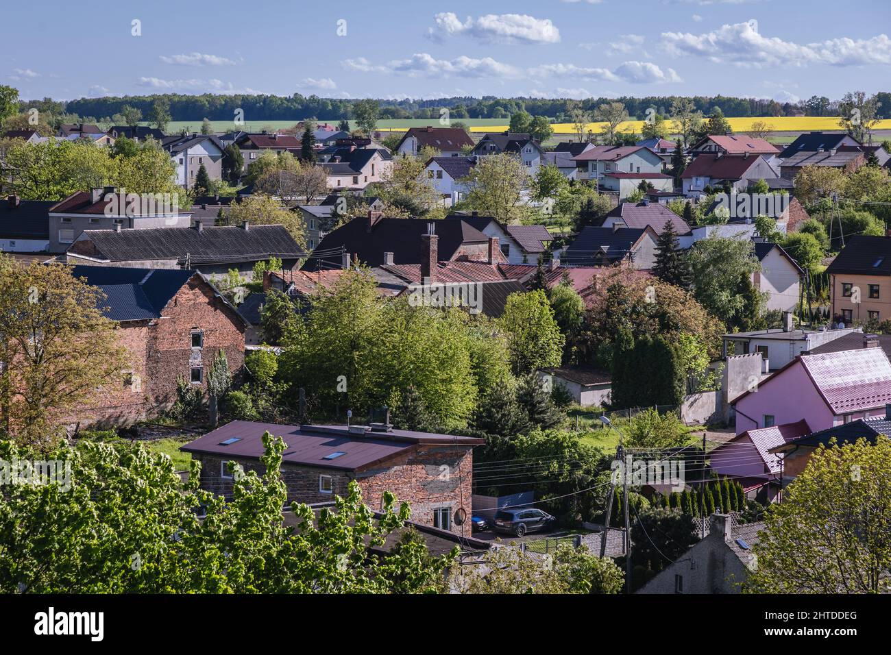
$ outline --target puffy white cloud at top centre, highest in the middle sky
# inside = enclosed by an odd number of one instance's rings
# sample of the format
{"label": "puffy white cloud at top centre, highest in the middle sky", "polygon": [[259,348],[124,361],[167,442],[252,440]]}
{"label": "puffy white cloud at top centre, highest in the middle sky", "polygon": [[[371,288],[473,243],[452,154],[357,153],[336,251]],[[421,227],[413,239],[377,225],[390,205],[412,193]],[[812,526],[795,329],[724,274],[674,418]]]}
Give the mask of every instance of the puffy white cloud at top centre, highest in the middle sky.
{"label": "puffy white cloud at top centre, highest in the middle sky", "polygon": [[436,27],[429,28],[426,36],[440,43],[446,38],[462,35],[486,43],[560,43],[560,29],[554,27],[551,20],[538,19],[525,13],[487,13],[477,19],[468,17],[462,22],[453,12],[441,12],[434,20]]}

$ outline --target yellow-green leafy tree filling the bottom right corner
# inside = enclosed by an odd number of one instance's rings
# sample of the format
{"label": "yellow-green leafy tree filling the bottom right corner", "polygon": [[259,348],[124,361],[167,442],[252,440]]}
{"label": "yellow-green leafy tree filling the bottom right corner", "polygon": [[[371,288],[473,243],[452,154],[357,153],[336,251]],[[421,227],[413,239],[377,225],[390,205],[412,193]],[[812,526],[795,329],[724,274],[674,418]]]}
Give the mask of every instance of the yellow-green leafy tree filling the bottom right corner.
{"label": "yellow-green leafy tree filling the bottom right corner", "polygon": [[821,446],[784,495],[764,518],[745,591],[891,591],[891,440]]}

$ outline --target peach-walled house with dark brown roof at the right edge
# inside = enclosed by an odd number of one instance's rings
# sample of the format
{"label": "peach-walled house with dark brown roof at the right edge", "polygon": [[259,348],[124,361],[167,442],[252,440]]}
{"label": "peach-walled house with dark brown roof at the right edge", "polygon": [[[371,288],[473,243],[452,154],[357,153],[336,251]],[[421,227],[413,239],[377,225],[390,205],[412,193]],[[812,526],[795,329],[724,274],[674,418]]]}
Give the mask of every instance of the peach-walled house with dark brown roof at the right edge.
{"label": "peach-walled house with dark brown roof at the right edge", "polygon": [[854,234],[826,274],[832,315],[843,323],[879,323],[891,318],[891,236]]}

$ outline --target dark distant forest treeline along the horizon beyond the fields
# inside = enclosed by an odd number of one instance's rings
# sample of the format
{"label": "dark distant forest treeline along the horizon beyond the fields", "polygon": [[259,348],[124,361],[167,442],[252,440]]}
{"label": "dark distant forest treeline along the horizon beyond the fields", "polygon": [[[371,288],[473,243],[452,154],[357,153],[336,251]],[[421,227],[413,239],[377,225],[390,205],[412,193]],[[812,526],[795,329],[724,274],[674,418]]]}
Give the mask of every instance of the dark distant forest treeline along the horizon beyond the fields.
{"label": "dark distant forest treeline along the horizon beyond the fields", "polygon": [[[891,94],[879,93],[879,118],[891,118]],[[659,95],[643,98],[623,96],[619,98],[589,98],[583,100],[585,110],[592,111],[604,102],[622,102],[633,118],[641,119],[647,109],[654,107],[659,114],[667,115],[672,102],[678,95]],[[125,105],[143,112],[143,117],[151,114],[152,104],[159,98],[170,103],[170,116],[173,120],[229,120],[238,109],[244,111],[249,120],[339,120],[353,118],[352,107],[358,100],[319,98],[315,95],[127,95],[123,97],[80,98],[69,102],[21,101],[22,110],[36,107],[53,115],[63,113],[78,114],[82,117],[103,119],[114,116]],[[813,96],[797,103],[776,102],[765,98],[736,98],[725,95],[692,97],[696,109],[710,113],[715,107],[724,116],[787,116],[794,111],[805,111],[808,116],[832,116],[837,114],[837,101],[826,97]],[[534,116],[547,116],[552,119],[565,118],[567,100],[545,98],[483,98],[453,97],[436,100],[379,100],[380,119],[434,119],[439,117],[439,109],[447,107],[452,119],[508,119],[511,114],[525,110]]]}

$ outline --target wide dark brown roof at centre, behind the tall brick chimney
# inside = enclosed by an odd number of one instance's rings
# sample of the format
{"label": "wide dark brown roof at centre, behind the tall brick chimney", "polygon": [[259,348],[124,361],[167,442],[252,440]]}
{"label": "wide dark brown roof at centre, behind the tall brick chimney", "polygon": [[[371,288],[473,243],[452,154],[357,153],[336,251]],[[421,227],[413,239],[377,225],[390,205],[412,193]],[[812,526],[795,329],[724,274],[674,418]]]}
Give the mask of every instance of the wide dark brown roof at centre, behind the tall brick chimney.
{"label": "wide dark brown roof at centre, behind the tall brick chimney", "polygon": [[[433,225],[437,234],[437,249],[440,261],[452,259],[465,243],[487,243],[488,237],[463,220],[427,221],[419,218],[376,218],[357,217],[326,234],[319,242],[317,251],[342,250],[356,254],[360,261],[369,266],[384,263],[384,253],[392,252],[396,264],[420,264],[421,235]],[[303,265],[305,271],[316,268],[337,268],[328,262],[321,264],[317,259],[308,259]]]}

